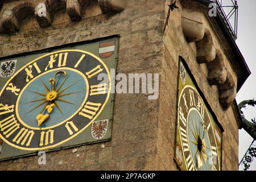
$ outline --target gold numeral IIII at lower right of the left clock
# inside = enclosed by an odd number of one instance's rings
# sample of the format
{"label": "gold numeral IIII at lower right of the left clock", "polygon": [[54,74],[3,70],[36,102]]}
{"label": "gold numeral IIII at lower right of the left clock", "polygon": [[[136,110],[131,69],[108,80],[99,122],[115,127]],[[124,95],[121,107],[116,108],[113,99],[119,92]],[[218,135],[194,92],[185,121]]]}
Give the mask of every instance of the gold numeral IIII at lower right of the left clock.
{"label": "gold numeral IIII at lower right of the left clock", "polygon": [[101,103],[86,102],[84,109],[79,113],[85,118],[92,119],[97,111],[100,109]]}

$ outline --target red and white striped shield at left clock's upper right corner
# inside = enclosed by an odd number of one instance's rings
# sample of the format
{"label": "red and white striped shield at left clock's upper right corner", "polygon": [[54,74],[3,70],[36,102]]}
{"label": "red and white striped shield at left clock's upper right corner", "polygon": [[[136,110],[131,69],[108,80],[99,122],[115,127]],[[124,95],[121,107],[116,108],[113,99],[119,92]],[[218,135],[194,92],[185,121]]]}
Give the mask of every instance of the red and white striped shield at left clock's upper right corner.
{"label": "red and white striped shield at left clock's upper right corner", "polygon": [[110,40],[108,42],[100,43],[100,48],[98,49],[98,53],[101,58],[108,58],[113,55],[115,52],[115,40]]}

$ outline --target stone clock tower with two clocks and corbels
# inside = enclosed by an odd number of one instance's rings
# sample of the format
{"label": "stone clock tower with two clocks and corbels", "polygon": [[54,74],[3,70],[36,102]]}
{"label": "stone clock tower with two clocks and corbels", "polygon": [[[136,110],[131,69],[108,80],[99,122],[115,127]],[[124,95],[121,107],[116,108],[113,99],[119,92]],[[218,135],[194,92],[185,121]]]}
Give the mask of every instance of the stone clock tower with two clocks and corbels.
{"label": "stone clock tower with two clocks and corbels", "polygon": [[250,70],[217,0],[0,1],[0,16],[0,170],[238,169]]}

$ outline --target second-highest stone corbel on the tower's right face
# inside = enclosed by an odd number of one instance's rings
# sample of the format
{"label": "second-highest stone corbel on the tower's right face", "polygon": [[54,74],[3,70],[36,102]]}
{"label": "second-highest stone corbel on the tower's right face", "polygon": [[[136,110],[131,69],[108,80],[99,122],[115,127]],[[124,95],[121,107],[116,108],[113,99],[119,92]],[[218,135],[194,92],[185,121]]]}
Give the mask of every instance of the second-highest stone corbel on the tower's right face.
{"label": "second-highest stone corbel on the tower's right face", "polygon": [[209,31],[205,31],[204,38],[196,43],[197,47],[197,61],[202,63],[209,63],[216,57],[216,49],[213,45],[212,35]]}

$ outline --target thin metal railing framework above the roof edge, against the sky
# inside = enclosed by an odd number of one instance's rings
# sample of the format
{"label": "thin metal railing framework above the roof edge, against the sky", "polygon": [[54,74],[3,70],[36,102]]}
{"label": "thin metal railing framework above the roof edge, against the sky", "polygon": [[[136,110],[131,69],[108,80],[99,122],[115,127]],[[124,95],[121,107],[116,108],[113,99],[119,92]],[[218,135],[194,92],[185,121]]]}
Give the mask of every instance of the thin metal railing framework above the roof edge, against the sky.
{"label": "thin metal railing framework above the roof edge, against the sky", "polygon": [[221,11],[234,39],[237,39],[238,5],[236,0],[212,0]]}

